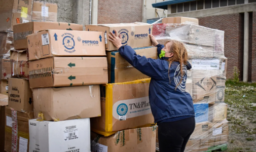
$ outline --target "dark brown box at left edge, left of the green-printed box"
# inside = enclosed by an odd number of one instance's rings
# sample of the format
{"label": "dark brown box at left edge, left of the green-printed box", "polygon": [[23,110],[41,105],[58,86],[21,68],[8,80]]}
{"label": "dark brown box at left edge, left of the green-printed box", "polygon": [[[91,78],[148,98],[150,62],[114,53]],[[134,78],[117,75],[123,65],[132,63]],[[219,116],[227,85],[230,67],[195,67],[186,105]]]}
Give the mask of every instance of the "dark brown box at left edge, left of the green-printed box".
{"label": "dark brown box at left edge, left of the green-printed box", "polygon": [[11,78],[11,63],[10,59],[0,58],[0,79]]}

